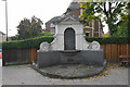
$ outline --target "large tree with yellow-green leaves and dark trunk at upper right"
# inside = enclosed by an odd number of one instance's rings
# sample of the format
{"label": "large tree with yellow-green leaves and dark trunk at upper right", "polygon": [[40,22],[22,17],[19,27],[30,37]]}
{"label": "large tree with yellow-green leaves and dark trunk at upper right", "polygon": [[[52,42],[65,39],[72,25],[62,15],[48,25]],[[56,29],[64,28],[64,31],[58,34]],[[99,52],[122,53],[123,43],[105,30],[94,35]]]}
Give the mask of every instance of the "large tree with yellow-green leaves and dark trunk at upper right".
{"label": "large tree with yellow-green leaves and dark trunk at upper right", "polygon": [[86,2],[80,3],[83,8],[83,13],[79,16],[86,22],[93,18],[99,18],[108,25],[109,36],[113,36],[116,24],[119,22],[119,16],[125,12],[126,2]]}

